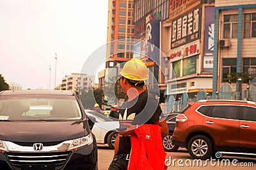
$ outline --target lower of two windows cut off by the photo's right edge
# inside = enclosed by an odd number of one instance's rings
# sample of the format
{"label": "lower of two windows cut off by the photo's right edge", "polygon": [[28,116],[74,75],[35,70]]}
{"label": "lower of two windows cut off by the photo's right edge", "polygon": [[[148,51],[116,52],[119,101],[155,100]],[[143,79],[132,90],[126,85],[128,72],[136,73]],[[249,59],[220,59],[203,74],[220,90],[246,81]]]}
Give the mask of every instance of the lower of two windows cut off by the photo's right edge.
{"label": "lower of two windows cut off by the photo's right edge", "polygon": [[256,77],[256,58],[243,58],[243,73],[252,79]]}

